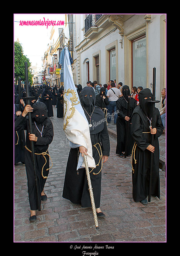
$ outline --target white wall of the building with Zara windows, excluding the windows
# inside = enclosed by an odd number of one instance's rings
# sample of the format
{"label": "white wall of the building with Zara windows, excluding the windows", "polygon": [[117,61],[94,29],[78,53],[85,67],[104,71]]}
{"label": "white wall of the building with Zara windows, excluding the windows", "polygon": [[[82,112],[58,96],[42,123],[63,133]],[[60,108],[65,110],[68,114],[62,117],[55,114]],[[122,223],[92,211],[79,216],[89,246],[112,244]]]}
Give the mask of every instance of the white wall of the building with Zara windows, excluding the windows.
{"label": "white wall of the building with Zara windows, excluding the windows", "polygon": [[[145,27],[146,33],[146,42],[147,42],[147,87],[151,90],[150,83],[153,82],[153,67],[156,67],[156,99],[160,100],[161,90],[160,90],[160,68],[162,66],[161,62],[161,47],[162,42],[160,38],[160,17],[162,14],[152,14],[151,22],[147,22],[144,19],[144,15],[133,15],[128,18],[124,22],[124,34],[134,33],[138,38],[138,31],[142,25]],[[107,36],[103,36],[103,34],[98,34],[95,38],[89,41],[88,38],[84,37],[84,21],[86,15],[77,14],[75,15],[76,22],[76,43],[75,46],[82,45],[82,48],[78,47],[77,55],[78,61],[80,62],[80,71],[77,71],[77,63],[76,63],[76,72],[80,72],[80,76],[76,77],[75,83],[81,83],[82,86],[86,86],[87,83],[87,61],[89,60],[89,80],[96,80],[93,77],[93,55],[95,53],[99,53],[99,67],[100,67],[100,83],[107,83],[107,54],[106,54],[106,46],[111,44],[112,42],[117,40],[116,44],[116,83],[122,82],[125,84],[125,45],[124,40],[121,38],[119,34],[119,29],[115,28],[115,26],[110,26],[107,28],[107,34],[114,28],[114,31]],[[135,32],[134,32],[135,31]],[[105,33],[104,33],[105,35]],[[102,38],[101,38],[102,37]],[[120,40],[122,39],[123,48],[121,48]],[[130,56],[129,56],[130,57]],[[130,61],[130,59],[129,59]],[[127,68],[127,67],[126,67]],[[129,70],[131,72],[131,70]],[[129,73],[128,73],[129,74]],[[128,75],[127,74],[127,75]],[[78,81],[78,82],[77,82]],[[130,86],[130,84],[127,84]],[[131,87],[131,86],[130,86]],[[162,87],[162,86],[161,86]]]}

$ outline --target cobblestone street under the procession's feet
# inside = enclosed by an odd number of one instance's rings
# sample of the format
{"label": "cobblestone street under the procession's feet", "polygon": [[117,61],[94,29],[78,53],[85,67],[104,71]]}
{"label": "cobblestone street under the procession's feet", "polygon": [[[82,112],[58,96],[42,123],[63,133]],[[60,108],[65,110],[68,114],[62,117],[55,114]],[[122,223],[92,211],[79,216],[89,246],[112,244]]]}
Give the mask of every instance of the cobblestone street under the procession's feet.
{"label": "cobblestone street under the procession's feet", "polygon": [[[95,229],[91,208],[71,203],[62,197],[69,144],[63,119],[53,107],[54,138],[49,145],[53,166],[45,184],[47,201],[41,203],[37,220],[29,223],[30,207],[25,166],[14,168],[14,241],[15,242],[165,242],[166,180],[160,171],[160,199],[151,197],[147,206],[132,198],[130,157],[119,158],[116,139],[110,137],[110,157],[103,164],[101,210]],[[51,166],[51,161],[49,162]]]}

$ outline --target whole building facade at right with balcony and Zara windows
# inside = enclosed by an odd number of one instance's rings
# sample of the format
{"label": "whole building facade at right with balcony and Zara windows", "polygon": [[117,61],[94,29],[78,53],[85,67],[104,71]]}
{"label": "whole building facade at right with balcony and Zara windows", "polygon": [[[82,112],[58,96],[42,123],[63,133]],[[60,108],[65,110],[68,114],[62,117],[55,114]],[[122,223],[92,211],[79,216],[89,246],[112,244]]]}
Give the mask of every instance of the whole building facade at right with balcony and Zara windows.
{"label": "whole building facade at right with balcony and Zara windows", "polygon": [[156,67],[156,99],[166,87],[165,14],[75,15],[75,83],[122,82],[151,88]]}

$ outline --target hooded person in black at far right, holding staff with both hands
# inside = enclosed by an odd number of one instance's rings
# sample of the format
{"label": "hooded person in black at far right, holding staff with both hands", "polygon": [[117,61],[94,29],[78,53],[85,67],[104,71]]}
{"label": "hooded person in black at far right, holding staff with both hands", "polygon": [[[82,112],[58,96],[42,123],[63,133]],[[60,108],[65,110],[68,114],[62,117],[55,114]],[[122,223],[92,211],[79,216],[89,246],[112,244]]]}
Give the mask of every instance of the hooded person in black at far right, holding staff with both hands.
{"label": "hooded person in black at far right, holding staff with both hands", "polygon": [[[145,88],[139,92],[139,106],[132,114],[131,135],[135,141],[132,150],[132,181],[133,199],[147,204],[150,181],[150,161],[153,153],[151,195],[160,198],[159,181],[159,141],[163,132],[163,124],[157,108],[154,111],[154,127],[152,127],[151,90]],[[154,136],[154,145],[151,145],[151,136]]]}

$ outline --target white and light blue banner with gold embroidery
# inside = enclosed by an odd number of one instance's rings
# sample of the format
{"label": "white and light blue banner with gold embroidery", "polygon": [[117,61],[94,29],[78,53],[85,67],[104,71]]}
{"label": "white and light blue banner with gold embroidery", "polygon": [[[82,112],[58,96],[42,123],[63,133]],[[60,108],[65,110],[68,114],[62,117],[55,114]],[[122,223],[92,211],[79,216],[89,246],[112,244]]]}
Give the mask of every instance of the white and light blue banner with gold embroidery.
{"label": "white and light blue banner with gold embroidery", "polygon": [[[63,56],[64,55],[64,56]],[[92,157],[92,144],[89,131],[89,123],[81,106],[79,96],[73,80],[72,58],[68,47],[62,51],[64,57],[64,132],[69,140],[70,147],[84,146],[87,149],[88,166],[95,168],[96,164]],[[62,57],[61,56],[61,57]],[[84,158],[79,155],[77,170],[85,168]]]}

